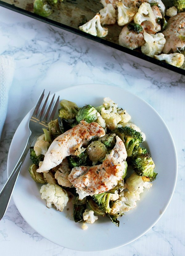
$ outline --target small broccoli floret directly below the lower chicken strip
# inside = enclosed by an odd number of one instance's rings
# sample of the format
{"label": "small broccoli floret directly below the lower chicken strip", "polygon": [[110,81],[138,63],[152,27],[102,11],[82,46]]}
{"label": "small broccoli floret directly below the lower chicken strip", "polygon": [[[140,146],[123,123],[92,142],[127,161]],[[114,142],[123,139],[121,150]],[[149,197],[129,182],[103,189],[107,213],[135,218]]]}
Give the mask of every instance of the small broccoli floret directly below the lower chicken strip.
{"label": "small broccoli floret directly below the lower chicken strip", "polygon": [[109,206],[110,202],[110,196],[111,193],[101,193],[97,195],[93,195],[92,199],[95,201],[95,203],[99,206],[99,208],[105,212],[105,213],[110,213],[111,208]]}

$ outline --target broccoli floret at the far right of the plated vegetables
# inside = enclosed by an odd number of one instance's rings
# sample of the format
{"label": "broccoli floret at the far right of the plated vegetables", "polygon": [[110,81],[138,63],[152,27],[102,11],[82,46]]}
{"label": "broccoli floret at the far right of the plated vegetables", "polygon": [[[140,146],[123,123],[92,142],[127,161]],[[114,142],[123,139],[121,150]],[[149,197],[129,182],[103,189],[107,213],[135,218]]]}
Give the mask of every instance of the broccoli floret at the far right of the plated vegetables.
{"label": "broccoli floret at the far right of the plated vegetables", "polygon": [[131,165],[138,175],[149,178],[150,181],[156,179],[157,173],[154,172],[155,164],[148,151],[136,155]]}

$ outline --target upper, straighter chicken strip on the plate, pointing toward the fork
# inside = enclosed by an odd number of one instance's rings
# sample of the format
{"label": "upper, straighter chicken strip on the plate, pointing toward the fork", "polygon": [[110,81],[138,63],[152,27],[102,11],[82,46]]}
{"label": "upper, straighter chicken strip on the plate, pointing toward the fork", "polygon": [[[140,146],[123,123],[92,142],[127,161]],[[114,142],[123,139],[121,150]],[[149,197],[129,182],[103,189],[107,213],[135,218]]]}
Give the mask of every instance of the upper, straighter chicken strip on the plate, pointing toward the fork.
{"label": "upper, straighter chicken strip on the plate, pointing toward the fork", "polygon": [[51,168],[59,165],[65,157],[77,155],[80,148],[87,145],[87,142],[92,138],[104,135],[105,131],[98,123],[88,124],[81,121],[80,124],[55,138],[37,172],[48,172]]}

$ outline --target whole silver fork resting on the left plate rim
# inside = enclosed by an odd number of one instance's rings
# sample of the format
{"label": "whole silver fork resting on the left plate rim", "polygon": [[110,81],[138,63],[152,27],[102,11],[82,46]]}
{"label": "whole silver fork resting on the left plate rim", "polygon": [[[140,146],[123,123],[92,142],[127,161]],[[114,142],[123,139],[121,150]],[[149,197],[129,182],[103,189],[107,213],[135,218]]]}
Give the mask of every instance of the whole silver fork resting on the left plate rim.
{"label": "whole silver fork resting on the left plate rim", "polygon": [[[35,109],[33,110],[33,113],[31,115],[31,118],[28,122],[28,128],[30,131],[30,136],[27,139],[26,146],[23,150],[23,153],[21,157],[19,158],[19,161],[17,162],[16,166],[14,167],[14,170],[10,174],[10,177],[6,181],[4,187],[2,188],[0,192],[0,220],[4,216],[6,209],[8,207],[8,204],[10,202],[10,198],[15,186],[15,183],[17,181],[18,175],[20,173],[20,169],[23,165],[24,159],[28,153],[28,150],[30,149],[31,143],[35,139],[36,136],[43,133],[43,128],[48,127],[48,123],[53,119],[58,103],[59,103],[59,96],[54,102],[55,94],[53,95],[51,101],[49,102],[47,108],[47,101],[49,98],[50,92],[47,94],[46,98],[44,98],[44,90],[42,94],[40,95]],[[42,105],[42,106],[41,106]],[[46,108],[46,110],[45,110]]]}

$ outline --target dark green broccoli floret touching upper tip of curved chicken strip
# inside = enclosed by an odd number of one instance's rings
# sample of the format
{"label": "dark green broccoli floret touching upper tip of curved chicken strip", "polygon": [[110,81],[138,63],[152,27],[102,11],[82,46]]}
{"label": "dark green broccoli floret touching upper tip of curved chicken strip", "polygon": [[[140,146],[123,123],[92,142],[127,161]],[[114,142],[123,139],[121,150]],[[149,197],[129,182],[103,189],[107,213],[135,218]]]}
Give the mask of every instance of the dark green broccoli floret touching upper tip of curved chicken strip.
{"label": "dark green broccoli floret touching upper tip of curved chicken strip", "polygon": [[142,143],[143,138],[140,132],[135,131],[130,127],[118,127],[113,132],[124,142],[128,157],[132,155],[135,146]]}

